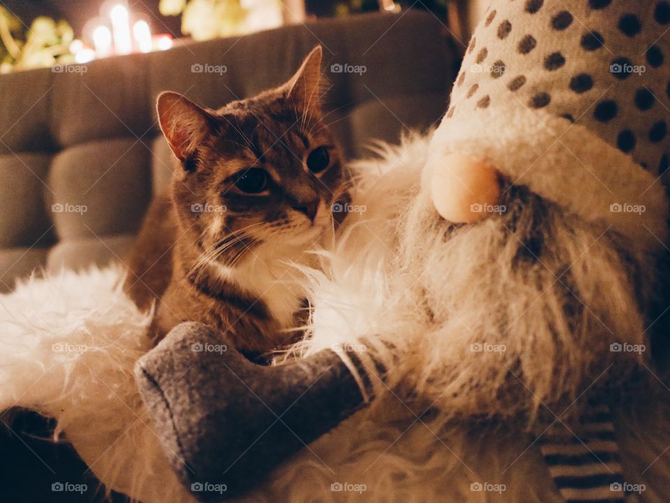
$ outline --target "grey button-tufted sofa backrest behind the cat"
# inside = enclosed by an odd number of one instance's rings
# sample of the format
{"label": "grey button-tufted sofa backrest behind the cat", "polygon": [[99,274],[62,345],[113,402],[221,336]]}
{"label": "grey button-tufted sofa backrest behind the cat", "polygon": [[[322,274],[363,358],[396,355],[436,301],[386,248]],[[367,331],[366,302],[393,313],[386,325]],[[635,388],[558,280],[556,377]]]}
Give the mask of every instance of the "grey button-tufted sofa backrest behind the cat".
{"label": "grey button-tufted sofa backrest behind the cat", "polygon": [[[288,79],[317,43],[332,83],[327,121],[348,156],[364,153],[373,138],[426,128],[445,110],[454,54],[440,22],[418,11],[104,59],[79,73],[1,75],[0,290],[36,268],[126,255],[172,168],[156,125],[158,92],[179,91],[217,108]],[[332,72],[336,63],[366,72]],[[198,64],[226,71],[195,73]]]}

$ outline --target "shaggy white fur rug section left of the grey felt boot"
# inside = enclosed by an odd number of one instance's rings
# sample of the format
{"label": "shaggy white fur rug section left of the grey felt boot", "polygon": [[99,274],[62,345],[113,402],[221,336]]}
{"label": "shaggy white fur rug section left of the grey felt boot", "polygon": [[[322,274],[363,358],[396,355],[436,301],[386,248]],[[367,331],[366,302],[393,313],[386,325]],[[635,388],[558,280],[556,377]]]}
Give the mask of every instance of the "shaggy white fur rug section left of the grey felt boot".
{"label": "shaggy white fur rug section left of the grey felt boot", "polygon": [[135,386],[152,313],[124,294],[123,276],[121,266],[64,271],[0,296],[0,410],[56,418],[56,435],[109,488],[144,503],[188,502]]}

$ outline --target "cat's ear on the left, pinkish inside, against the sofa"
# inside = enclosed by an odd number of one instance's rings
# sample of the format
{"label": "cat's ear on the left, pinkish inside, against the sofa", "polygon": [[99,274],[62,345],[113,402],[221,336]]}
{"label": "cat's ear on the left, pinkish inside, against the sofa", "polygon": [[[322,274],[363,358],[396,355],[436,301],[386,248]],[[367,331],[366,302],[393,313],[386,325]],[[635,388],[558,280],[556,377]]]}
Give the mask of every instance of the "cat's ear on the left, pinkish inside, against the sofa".
{"label": "cat's ear on the left, pinkish inside, against the sofa", "polygon": [[170,149],[179,160],[188,160],[211,131],[209,114],[193,101],[172,91],[158,95],[156,111]]}

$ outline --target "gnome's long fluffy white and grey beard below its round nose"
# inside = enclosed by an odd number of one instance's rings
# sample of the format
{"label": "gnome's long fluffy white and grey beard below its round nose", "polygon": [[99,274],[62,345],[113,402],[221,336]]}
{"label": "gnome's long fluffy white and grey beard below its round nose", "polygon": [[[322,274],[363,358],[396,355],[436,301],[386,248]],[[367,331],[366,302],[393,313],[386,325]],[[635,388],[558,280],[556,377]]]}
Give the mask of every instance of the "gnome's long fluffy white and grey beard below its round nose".
{"label": "gnome's long fluffy white and grey beard below its round nose", "polygon": [[553,421],[622,389],[648,352],[611,345],[649,347],[639,306],[652,257],[523,187],[505,192],[500,215],[448,223],[422,189],[427,141],[355,166],[352,204],[366,211],[314,276],[309,350],[364,347],[368,371],[385,368],[375,394],[392,389],[445,421],[533,422],[544,406]]}

